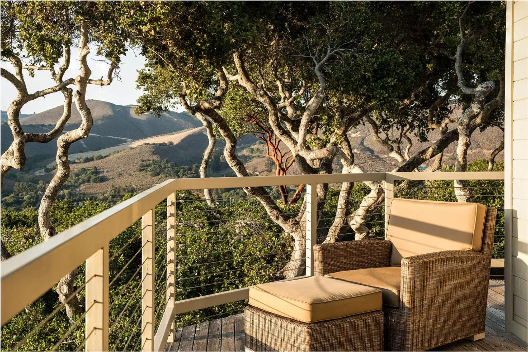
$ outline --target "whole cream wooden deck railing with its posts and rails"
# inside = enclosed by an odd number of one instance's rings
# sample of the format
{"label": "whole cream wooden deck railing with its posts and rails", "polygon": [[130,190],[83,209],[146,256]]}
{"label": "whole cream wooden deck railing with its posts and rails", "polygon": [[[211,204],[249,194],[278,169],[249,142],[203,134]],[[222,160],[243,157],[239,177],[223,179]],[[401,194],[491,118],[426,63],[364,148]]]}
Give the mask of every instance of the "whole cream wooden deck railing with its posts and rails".
{"label": "whole cream wooden deck railing with its posts and rails", "polygon": [[[388,221],[394,182],[398,180],[503,180],[503,172],[379,172],[329,175],[288,175],[246,178],[167,180],[133,198],[63,231],[48,241],[2,263],[1,323],[42,296],[71,270],[86,262],[87,351],[108,350],[109,241],[142,219],[142,350],[161,351],[174,338],[174,316],[248,298],[249,288],[175,301],[176,191],[306,184],[306,275],[313,275],[312,247],[316,243],[316,188],[319,183],[383,181],[385,222]],[[167,199],[167,305],[154,329],[154,208]],[[386,227],[385,227],[386,228]],[[88,307],[88,303],[86,304]],[[91,305],[90,305],[91,306]]]}

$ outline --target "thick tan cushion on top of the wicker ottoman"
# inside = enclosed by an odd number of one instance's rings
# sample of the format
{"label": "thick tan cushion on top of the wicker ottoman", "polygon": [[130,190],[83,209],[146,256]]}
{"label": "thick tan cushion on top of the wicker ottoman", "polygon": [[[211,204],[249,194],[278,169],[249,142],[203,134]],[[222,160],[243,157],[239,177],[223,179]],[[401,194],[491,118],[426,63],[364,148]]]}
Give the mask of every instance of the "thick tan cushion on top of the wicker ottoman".
{"label": "thick tan cushion on top of the wicker ottoman", "polygon": [[381,309],[381,291],[313,276],[249,288],[249,305],[303,322],[343,318]]}

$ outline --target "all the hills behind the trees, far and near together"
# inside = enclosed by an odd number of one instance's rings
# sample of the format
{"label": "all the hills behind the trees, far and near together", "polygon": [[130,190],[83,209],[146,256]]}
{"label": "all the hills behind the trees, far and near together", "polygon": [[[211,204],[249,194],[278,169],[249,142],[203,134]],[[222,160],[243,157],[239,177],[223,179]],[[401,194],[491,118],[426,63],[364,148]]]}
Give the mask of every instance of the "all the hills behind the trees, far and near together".
{"label": "all the hills behind the trees, far and near together", "polygon": [[[139,171],[140,164],[145,162],[156,163],[156,161],[166,160],[166,162],[175,163],[177,167],[192,167],[193,164],[201,162],[208,140],[201,123],[191,116],[168,112],[161,119],[157,119],[147,114],[135,115],[132,105],[120,106],[95,100],[89,101],[89,105],[94,116],[92,133],[88,138],[72,145],[70,160],[80,160],[95,155],[102,155],[105,158],[72,163],[72,170],[96,167],[102,177],[103,182],[81,185],[82,192],[89,194],[106,193],[113,187],[130,186],[142,190],[168,178],[165,174],[152,176],[151,173]],[[44,123],[53,121],[53,116],[60,112],[61,107],[56,107],[40,114],[28,116],[21,120],[24,124],[24,130],[27,132],[49,131],[51,126]],[[76,128],[78,123],[79,114],[76,110],[65,130]],[[4,150],[11,142],[11,131],[5,123],[1,125],[1,128],[2,149]],[[348,135],[354,148],[355,163],[360,165],[365,172],[390,171],[397,166],[397,161],[390,158],[387,151],[373,139],[369,124],[357,126]],[[502,131],[498,128],[488,128],[484,132],[475,131],[468,153],[468,161],[488,158],[489,154],[501,142],[502,136]],[[411,148],[411,155],[413,155],[436,141],[438,131],[429,133],[428,142],[419,142],[414,135],[410,137],[413,141]],[[215,148],[219,156],[222,154],[223,146],[223,141],[218,140]],[[405,146],[406,143],[403,143],[402,149]],[[47,172],[44,168],[47,166],[54,169],[55,148],[54,142],[27,144],[27,171],[32,171],[31,173],[39,179],[49,181],[52,173]],[[451,144],[446,149],[443,160],[445,164],[454,164],[455,150],[456,143]],[[265,145],[261,144],[261,141],[254,136],[248,135],[239,141],[237,154],[240,160],[246,164],[250,174],[275,174],[274,164],[266,157]],[[496,160],[503,161],[504,153],[499,153]],[[431,162],[426,162],[426,165]],[[210,171],[210,176],[218,177],[232,172],[227,164],[223,164],[222,168],[215,172]],[[336,161],[334,163],[335,172],[340,169],[341,167]],[[288,170],[288,174],[299,173],[300,170],[296,164]],[[11,181],[6,179],[6,188],[12,187]]]}

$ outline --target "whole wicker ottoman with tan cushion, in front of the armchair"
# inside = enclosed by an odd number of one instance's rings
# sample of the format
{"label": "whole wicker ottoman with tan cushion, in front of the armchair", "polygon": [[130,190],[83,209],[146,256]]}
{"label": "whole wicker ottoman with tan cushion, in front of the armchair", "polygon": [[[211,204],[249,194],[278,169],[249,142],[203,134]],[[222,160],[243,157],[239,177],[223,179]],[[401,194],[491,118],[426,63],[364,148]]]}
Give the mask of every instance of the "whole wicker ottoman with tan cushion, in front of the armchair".
{"label": "whole wicker ottoman with tan cushion, in front of the armchair", "polygon": [[382,351],[381,291],[314,276],[249,290],[244,311],[251,351]]}

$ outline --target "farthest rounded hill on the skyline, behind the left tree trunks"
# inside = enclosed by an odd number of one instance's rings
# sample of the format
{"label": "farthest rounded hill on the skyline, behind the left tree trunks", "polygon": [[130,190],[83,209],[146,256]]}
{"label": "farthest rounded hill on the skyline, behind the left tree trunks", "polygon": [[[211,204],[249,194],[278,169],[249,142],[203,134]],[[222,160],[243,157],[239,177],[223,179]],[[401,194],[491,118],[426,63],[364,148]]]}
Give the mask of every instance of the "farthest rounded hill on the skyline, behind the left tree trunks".
{"label": "farthest rounded hill on the skyline, behind the left tree trunks", "polygon": [[[99,100],[87,100],[92,111],[93,126],[88,138],[72,144],[71,153],[95,151],[124,142],[135,141],[150,136],[173,133],[186,129],[196,128],[202,124],[188,114],[169,111],[161,118],[152,114],[136,115],[134,105],[116,105]],[[21,119],[24,131],[42,133],[53,128],[56,120],[62,114],[62,106],[30,115]],[[73,105],[72,116],[65,127],[65,131],[77,128],[81,122],[77,107]],[[3,153],[13,141],[11,130],[2,124],[0,134],[1,152]],[[54,141],[47,144],[28,143],[26,155],[31,157],[36,154],[55,154]]]}

